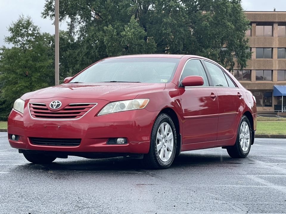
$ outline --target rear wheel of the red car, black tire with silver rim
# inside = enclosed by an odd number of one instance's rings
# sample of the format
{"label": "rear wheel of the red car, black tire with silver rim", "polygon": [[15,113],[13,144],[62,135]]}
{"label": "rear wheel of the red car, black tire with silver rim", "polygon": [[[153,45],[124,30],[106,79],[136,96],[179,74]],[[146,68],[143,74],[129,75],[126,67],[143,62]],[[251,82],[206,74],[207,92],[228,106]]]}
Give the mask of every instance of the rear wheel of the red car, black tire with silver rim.
{"label": "rear wheel of the red car, black tire with silver rim", "polygon": [[[245,130],[243,130],[243,128]],[[226,148],[227,153],[229,153],[231,158],[245,158],[248,155],[252,142],[251,135],[252,132],[250,122],[248,118],[243,115],[238,126],[237,137],[234,146],[229,146]]]}

